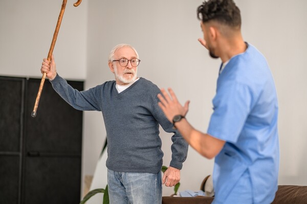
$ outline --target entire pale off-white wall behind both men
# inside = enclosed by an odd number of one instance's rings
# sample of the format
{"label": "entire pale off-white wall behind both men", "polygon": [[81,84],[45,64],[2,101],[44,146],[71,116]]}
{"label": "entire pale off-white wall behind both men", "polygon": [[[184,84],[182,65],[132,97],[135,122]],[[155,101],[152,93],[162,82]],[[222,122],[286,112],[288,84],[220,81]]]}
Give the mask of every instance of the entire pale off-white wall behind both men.
{"label": "entire pale off-white wall behind both men", "polygon": [[[83,0],[75,8],[69,1],[54,50],[58,73],[67,79],[85,80],[85,88],[113,80],[107,67],[109,51],[118,43],[133,44],[142,60],[139,76],[160,87],[171,86],[182,103],[191,100],[187,118],[205,132],[220,60],[211,59],[197,41],[202,32],[196,8],[202,2]],[[245,40],[266,56],[276,82],[279,184],[307,185],[307,2],[235,2],[242,11]],[[2,1],[0,75],[41,77],[41,59],[47,57],[60,5],[60,0]],[[82,177],[94,173],[104,138],[101,113],[84,112]],[[168,166],[170,135],[162,131],[161,138],[164,165]],[[212,167],[213,160],[190,148],[180,191],[198,190]],[[171,193],[172,188],[164,188],[163,195]]]}

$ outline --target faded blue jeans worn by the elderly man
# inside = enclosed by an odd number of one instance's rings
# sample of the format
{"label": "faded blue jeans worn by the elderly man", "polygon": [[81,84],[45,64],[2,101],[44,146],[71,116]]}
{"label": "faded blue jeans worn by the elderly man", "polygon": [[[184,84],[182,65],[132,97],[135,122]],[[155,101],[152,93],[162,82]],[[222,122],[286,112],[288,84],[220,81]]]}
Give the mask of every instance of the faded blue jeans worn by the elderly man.
{"label": "faded blue jeans worn by the elderly man", "polygon": [[153,173],[107,170],[110,204],[161,204],[161,171]]}

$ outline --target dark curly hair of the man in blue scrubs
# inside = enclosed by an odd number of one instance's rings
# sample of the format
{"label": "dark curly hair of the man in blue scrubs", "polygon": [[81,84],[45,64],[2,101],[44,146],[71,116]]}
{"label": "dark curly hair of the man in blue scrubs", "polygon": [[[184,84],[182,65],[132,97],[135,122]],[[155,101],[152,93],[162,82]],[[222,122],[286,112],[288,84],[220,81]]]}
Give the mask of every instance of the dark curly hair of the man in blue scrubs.
{"label": "dark curly hair of the man in blue scrubs", "polygon": [[229,27],[241,27],[240,10],[232,0],[204,1],[197,9],[197,17],[203,22],[216,20]]}

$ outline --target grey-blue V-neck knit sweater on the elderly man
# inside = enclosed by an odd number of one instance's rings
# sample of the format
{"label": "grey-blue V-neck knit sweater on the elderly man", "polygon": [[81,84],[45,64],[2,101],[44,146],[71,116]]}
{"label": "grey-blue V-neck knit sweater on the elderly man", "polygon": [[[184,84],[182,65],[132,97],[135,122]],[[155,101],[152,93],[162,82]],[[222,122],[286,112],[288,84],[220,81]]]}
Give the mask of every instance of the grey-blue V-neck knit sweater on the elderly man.
{"label": "grey-blue V-neck knit sweater on the elderly man", "polygon": [[186,160],[188,144],[158,106],[160,89],[152,82],[140,78],[121,93],[116,82],[79,92],[59,75],[51,81],[56,92],[78,110],[102,111],[107,133],[108,169],[119,172],[158,173],[162,167],[163,152],[159,124],[171,138],[170,166],[181,169]]}

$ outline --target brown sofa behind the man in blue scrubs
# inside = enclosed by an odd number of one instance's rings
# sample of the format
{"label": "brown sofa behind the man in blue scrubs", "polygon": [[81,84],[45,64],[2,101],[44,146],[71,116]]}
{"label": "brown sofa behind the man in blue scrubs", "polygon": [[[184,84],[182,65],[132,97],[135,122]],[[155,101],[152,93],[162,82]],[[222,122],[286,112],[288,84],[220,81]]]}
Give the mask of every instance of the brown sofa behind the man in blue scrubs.
{"label": "brown sofa behind the man in blue scrubs", "polygon": [[[207,178],[207,177],[206,177]],[[201,190],[204,190],[204,179]],[[163,196],[162,204],[210,204],[214,197],[196,196],[196,197],[173,197]],[[306,204],[307,186],[278,186],[275,199],[272,204]]]}

